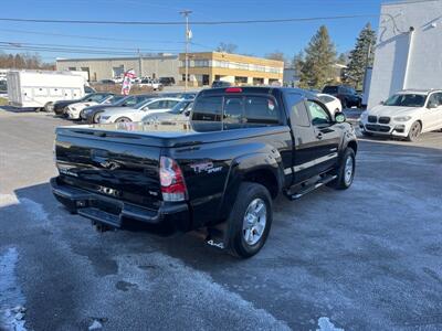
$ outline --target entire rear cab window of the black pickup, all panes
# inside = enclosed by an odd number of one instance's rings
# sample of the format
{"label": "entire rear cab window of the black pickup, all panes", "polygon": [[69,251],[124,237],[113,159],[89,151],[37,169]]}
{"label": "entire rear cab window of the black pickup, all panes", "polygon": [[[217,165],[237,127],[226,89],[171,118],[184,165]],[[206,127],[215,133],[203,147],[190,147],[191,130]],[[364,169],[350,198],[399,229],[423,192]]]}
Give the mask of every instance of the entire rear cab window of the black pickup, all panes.
{"label": "entire rear cab window of the black pickup, all panes", "polygon": [[203,96],[193,107],[192,121],[217,124],[224,130],[281,125],[276,102],[269,96]]}

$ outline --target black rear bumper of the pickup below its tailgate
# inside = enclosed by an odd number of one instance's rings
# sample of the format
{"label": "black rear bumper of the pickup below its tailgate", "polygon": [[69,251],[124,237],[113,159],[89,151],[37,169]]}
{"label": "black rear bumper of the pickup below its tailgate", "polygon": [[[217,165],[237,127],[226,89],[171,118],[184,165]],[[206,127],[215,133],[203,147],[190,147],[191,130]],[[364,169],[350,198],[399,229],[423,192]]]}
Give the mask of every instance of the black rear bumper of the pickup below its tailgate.
{"label": "black rear bumper of the pickup below its tailgate", "polygon": [[64,184],[59,178],[51,179],[51,186],[55,199],[70,212],[78,213],[94,222],[117,228],[124,228],[135,221],[166,226],[172,232],[191,229],[187,203],[164,203],[158,210],[152,210]]}

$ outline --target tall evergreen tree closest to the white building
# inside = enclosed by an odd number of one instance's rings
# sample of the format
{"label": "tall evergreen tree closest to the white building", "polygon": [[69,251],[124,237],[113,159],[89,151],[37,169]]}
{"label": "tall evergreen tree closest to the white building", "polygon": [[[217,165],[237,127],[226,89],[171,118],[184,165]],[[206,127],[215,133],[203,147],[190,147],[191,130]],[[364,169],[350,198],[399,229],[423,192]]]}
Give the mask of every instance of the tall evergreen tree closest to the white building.
{"label": "tall evergreen tree closest to the white building", "polygon": [[355,49],[350,52],[348,68],[345,71],[345,82],[357,89],[362,87],[367,66],[372,66],[375,60],[376,32],[368,23],[359,33]]}

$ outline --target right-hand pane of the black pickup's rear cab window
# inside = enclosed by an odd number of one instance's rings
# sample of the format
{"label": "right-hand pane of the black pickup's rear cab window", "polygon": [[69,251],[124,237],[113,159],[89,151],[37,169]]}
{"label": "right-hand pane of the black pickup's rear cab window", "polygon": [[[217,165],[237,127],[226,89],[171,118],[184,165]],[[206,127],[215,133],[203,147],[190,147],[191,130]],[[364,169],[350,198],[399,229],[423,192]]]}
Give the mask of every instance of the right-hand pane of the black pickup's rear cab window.
{"label": "right-hand pane of the black pickup's rear cab window", "polygon": [[249,96],[244,98],[246,127],[278,126],[280,109],[270,97]]}

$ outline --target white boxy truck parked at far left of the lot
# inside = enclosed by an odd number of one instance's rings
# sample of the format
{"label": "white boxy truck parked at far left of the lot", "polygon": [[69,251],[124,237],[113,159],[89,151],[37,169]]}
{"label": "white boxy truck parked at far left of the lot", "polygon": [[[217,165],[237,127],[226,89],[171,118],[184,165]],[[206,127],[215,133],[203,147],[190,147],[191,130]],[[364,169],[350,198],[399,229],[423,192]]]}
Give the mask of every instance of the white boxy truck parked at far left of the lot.
{"label": "white boxy truck parked at far left of the lot", "polygon": [[50,109],[56,100],[84,96],[85,78],[70,72],[10,71],[8,98],[13,107]]}

